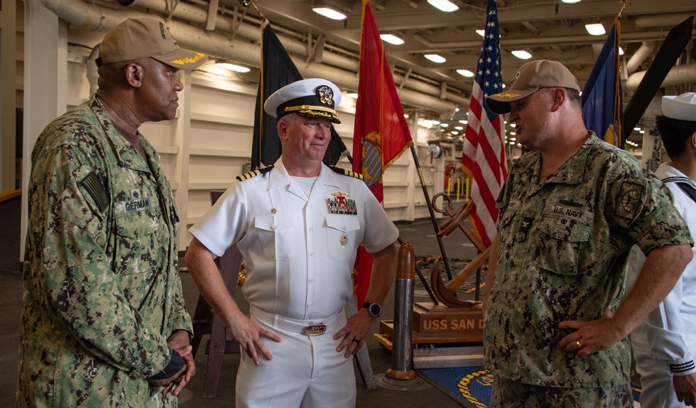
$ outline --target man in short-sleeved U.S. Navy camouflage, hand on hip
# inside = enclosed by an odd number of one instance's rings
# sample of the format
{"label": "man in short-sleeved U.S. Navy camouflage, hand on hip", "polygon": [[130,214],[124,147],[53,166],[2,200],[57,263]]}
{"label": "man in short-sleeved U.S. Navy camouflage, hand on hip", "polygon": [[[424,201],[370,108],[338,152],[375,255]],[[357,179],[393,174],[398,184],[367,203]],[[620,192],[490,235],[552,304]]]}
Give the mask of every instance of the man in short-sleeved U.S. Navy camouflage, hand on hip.
{"label": "man in short-sleeved U.S. Navy camouflage, hand on hip", "polygon": [[[626,336],[692,257],[667,189],[587,131],[579,91],[563,65],[534,61],[487,97],[533,150],[498,198],[484,322],[493,407],[633,407]],[[621,303],[633,244],[649,255]]]}

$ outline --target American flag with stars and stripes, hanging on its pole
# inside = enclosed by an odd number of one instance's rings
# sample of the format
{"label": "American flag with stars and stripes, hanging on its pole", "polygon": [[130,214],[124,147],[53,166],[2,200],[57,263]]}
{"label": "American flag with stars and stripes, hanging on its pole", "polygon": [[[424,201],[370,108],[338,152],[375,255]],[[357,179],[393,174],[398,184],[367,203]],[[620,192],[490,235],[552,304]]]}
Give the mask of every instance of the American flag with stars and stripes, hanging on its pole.
{"label": "American flag with stars and stripes, hanging on its pole", "polygon": [[496,0],[489,0],[486,28],[476,66],[468,124],[461,162],[473,177],[470,198],[475,208],[470,221],[482,242],[489,246],[496,235],[496,198],[507,176],[503,116],[489,111],[485,97],[503,91],[500,65],[500,29]]}

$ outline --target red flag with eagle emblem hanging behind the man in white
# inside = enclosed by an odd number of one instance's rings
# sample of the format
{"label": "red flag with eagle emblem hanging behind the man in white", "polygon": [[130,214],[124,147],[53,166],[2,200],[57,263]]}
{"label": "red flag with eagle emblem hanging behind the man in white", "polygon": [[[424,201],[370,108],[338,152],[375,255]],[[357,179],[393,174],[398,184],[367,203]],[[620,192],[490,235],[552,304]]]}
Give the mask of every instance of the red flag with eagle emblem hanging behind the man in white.
{"label": "red flag with eagle emblem hanging behind the man in white", "polygon": [[[365,177],[367,187],[381,203],[382,173],[413,146],[413,141],[369,0],[363,0],[358,75],[353,171]],[[354,270],[358,305],[365,300],[371,269],[372,256],[360,246]]]}

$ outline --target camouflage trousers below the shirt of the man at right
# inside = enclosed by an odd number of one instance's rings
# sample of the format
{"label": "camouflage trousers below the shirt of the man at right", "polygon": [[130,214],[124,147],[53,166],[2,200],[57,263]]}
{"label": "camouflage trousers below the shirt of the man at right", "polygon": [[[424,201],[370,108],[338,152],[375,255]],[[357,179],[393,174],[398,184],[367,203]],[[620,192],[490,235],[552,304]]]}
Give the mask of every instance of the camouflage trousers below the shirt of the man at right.
{"label": "camouflage trousers below the shirt of the man at right", "polygon": [[491,408],[633,408],[631,384],[589,389],[546,387],[493,377]]}

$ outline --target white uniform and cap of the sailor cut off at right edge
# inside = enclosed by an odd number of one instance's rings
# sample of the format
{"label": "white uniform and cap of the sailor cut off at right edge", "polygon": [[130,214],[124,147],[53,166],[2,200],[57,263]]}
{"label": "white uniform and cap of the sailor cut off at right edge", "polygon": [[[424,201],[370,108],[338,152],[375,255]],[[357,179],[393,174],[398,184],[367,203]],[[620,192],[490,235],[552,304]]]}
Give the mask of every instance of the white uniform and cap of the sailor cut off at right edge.
{"label": "white uniform and cap of the sailor cut off at right edge", "polygon": [[[663,99],[665,116],[687,120],[688,116],[670,109],[672,102],[675,101]],[[665,103],[668,106],[665,107]],[[690,117],[696,120],[696,105],[692,105],[690,111]],[[696,203],[677,182],[691,185],[694,189],[696,184],[670,166],[670,162],[661,164],[655,175],[672,191],[674,207],[686,221],[691,235],[696,235]],[[696,352],[696,246],[692,249],[694,258],[686,265],[670,294],[631,333],[635,369],[640,374],[642,387],[641,407],[683,407],[683,402],[677,400],[674,392],[672,377],[696,372],[693,360],[693,353]],[[626,292],[633,287],[644,262],[642,251],[633,247],[628,262]]]}

